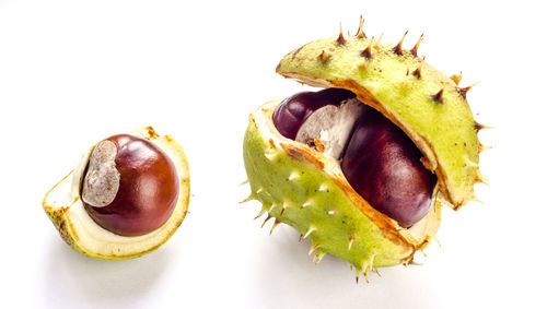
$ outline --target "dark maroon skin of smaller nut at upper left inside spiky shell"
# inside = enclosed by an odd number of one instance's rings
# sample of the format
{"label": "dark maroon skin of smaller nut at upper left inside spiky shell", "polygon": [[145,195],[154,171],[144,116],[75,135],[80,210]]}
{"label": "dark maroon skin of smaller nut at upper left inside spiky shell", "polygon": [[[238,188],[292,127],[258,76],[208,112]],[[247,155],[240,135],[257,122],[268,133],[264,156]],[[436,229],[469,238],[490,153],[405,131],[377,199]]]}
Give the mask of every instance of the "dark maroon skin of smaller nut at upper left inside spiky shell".
{"label": "dark maroon skin of smaller nut at upper left inside spiky shell", "polygon": [[294,140],[300,127],[315,110],[326,106],[339,106],[341,102],[356,97],[342,88],[319,92],[303,92],[286,98],[274,111],[274,124],[281,135]]}

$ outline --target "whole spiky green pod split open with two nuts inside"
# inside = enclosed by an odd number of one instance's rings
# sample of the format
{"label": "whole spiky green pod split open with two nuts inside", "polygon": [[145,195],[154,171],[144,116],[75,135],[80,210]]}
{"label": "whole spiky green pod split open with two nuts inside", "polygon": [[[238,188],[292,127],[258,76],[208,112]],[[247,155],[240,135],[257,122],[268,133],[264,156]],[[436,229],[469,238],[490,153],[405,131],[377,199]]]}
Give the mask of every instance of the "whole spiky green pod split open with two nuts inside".
{"label": "whole spiky green pod split open with two nuts inside", "polygon": [[[405,34],[406,35],[406,34]],[[327,38],[289,52],[286,78],[327,88],[274,100],[251,115],[244,162],[260,215],[312,241],[312,253],[360,272],[412,261],[438,230],[441,201],[475,200],[478,124],[457,86],[410,49]],[[315,259],[314,259],[315,260]]]}

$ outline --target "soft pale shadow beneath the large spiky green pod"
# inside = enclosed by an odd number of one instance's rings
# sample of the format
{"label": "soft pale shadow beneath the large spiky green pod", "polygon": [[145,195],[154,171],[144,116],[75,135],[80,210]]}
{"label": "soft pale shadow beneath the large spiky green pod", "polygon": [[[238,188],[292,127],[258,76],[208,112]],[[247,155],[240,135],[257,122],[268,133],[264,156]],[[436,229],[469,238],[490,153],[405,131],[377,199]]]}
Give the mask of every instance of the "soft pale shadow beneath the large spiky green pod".
{"label": "soft pale shadow beneath the large spiky green pod", "polygon": [[[275,233],[267,245],[272,248],[263,247],[259,252],[254,277],[261,308],[408,308],[409,304],[434,308],[428,288],[431,282],[419,269],[384,268],[380,269],[382,277],[371,272],[366,283],[361,274],[356,284],[348,262],[325,255],[316,265],[307,255],[310,241],[299,242],[299,234],[288,226]],[[398,295],[416,299],[398,299]]]}

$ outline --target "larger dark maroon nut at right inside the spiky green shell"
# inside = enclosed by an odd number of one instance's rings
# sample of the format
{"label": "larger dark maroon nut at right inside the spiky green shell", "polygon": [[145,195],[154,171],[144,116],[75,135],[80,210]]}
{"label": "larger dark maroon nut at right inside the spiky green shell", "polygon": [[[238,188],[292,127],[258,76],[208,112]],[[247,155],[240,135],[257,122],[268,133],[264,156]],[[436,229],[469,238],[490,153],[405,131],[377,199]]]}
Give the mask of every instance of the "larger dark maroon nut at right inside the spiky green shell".
{"label": "larger dark maroon nut at right inside the spiky green shell", "polygon": [[375,210],[410,227],[428,213],[437,183],[421,157],[405,132],[369,107],[356,123],[341,169]]}

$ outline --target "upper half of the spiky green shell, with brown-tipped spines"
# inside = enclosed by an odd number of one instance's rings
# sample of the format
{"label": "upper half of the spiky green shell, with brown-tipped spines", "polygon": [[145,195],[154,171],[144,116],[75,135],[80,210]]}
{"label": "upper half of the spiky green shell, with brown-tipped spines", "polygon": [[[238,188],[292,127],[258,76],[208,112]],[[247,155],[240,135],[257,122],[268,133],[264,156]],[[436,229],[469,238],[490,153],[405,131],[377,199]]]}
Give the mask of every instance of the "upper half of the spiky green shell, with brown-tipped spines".
{"label": "upper half of the spiky green shell, with brown-tipped spines", "polygon": [[[360,32],[361,33],[361,32]],[[277,72],[323,87],[342,87],[401,128],[439,178],[454,209],[475,200],[481,148],[465,92],[412,51],[364,35],[319,39],[288,54]]]}

